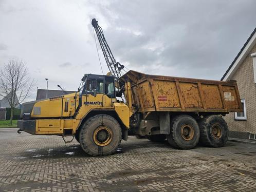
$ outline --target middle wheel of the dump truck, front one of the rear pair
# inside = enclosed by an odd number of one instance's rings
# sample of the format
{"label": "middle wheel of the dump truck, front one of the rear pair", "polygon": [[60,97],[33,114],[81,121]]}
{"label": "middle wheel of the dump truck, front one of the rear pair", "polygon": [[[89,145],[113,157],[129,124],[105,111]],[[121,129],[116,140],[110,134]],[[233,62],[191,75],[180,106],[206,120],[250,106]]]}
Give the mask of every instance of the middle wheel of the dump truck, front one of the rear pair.
{"label": "middle wheel of the dump truck, front one of the rear pair", "polygon": [[[184,134],[184,131],[182,130],[185,130],[185,129],[190,130],[189,134],[186,134],[186,135]],[[200,138],[199,126],[195,121],[195,119],[192,118],[191,116],[188,116],[188,115],[176,116],[171,120],[170,135],[166,135],[166,138],[170,143],[170,145],[172,145],[175,148],[180,148],[180,149],[194,148],[197,145]]]}

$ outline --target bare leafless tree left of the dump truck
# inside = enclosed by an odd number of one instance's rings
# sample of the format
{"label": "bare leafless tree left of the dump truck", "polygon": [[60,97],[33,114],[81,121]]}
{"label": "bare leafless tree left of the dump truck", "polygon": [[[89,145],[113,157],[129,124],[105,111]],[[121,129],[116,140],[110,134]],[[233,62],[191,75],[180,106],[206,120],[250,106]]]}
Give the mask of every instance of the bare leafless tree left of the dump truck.
{"label": "bare leafless tree left of the dump truck", "polygon": [[0,95],[6,97],[11,108],[10,123],[12,125],[13,111],[30,96],[35,82],[28,74],[26,63],[22,60],[10,59],[0,71]]}

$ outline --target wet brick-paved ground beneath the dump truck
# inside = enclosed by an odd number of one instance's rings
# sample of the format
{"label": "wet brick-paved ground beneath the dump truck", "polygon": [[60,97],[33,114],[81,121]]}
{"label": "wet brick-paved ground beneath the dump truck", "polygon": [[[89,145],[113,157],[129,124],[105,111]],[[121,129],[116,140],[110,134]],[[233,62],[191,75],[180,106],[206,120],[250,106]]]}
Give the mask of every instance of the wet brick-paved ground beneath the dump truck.
{"label": "wet brick-paved ground beneath the dump truck", "polygon": [[130,137],[108,157],[76,141],[0,129],[0,191],[255,191],[256,145],[173,149]]}

